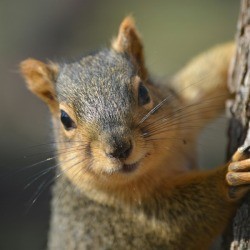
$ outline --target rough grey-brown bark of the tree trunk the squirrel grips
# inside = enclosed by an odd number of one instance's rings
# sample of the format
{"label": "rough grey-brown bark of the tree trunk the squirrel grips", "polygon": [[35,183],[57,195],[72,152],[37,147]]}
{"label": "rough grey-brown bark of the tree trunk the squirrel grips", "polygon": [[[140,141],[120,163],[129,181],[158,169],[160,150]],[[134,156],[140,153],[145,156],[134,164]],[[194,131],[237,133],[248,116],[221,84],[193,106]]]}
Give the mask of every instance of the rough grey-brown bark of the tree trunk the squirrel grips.
{"label": "rough grey-brown bark of the tree trunk the squirrel grips", "polygon": [[[228,157],[242,145],[250,145],[250,0],[242,0],[236,34],[237,52],[230,70]],[[223,249],[250,249],[250,195],[248,195],[224,237]]]}

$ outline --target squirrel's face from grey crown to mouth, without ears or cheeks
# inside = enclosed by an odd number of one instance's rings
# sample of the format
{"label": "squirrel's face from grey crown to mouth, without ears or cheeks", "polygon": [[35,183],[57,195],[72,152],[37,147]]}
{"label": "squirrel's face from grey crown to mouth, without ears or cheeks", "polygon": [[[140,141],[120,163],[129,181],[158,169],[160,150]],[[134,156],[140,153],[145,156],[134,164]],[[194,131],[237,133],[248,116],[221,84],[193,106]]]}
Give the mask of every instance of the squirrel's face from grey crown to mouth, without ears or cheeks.
{"label": "squirrel's face from grey crown to mouth, without ears or cheeks", "polygon": [[94,172],[132,172],[146,156],[138,123],[153,100],[145,84],[129,57],[114,50],[60,67],[56,92],[62,130],[66,138],[85,142],[85,159]]}

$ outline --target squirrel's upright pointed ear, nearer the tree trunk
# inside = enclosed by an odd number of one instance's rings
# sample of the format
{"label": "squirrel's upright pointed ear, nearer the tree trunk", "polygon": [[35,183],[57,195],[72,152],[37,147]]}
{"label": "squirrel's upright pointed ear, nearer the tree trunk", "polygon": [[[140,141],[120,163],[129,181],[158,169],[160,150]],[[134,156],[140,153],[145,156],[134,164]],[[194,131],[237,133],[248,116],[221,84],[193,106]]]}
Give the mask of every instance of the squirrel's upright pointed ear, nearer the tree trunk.
{"label": "squirrel's upright pointed ear, nearer the tree trunk", "polygon": [[136,66],[139,68],[139,75],[147,77],[147,70],[144,65],[143,44],[136,30],[134,19],[126,17],[119,28],[118,36],[112,41],[112,48],[118,53],[129,54]]}

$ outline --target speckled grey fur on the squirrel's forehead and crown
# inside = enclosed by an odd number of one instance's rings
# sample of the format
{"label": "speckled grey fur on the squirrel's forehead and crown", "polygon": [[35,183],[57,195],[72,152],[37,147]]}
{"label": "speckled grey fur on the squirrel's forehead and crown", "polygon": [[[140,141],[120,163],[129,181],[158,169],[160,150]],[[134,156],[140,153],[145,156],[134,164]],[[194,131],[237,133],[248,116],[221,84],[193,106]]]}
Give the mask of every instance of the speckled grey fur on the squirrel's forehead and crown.
{"label": "speckled grey fur on the squirrel's forehead and crown", "polygon": [[61,65],[57,95],[60,102],[74,107],[82,121],[104,127],[124,126],[135,104],[134,75],[135,68],[124,54],[105,49]]}

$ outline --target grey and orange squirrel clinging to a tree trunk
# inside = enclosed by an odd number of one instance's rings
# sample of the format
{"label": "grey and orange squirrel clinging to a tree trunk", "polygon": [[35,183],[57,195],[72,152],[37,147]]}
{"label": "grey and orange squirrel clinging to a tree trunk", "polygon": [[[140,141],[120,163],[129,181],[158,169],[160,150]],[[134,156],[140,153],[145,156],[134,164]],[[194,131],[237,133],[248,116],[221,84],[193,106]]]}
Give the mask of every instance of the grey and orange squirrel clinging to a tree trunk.
{"label": "grey and orange squirrel clinging to a tree trunk", "polygon": [[208,249],[250,187],[248,148],[201,171],[196,139],[230,97],[235,44],[152,80],[132,17],[110,48],[64,63],[26,59],[52,114],[56,181],[48,249]]}

